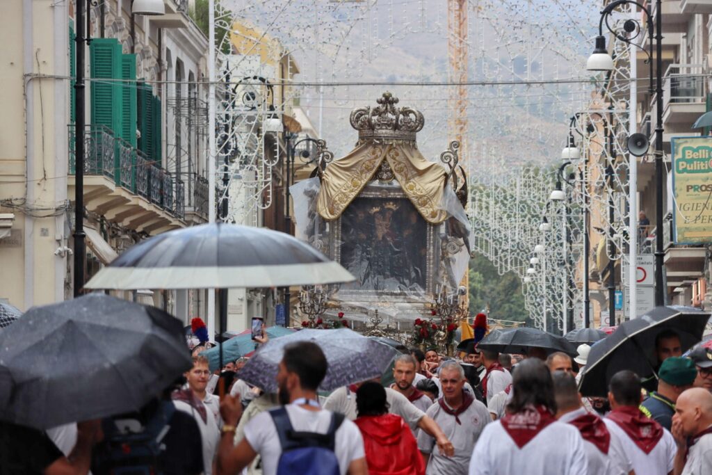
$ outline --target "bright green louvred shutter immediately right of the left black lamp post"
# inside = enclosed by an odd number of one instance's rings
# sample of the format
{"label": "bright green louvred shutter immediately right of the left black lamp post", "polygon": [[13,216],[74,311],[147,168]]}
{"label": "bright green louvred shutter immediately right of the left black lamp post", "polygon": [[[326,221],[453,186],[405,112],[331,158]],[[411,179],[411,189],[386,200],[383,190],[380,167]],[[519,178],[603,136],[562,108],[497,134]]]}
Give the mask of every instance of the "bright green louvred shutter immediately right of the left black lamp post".
{"label": "bright green louvred shutter immediately right of the left black lamp post", "polygon": [[[91,123],[109,127],[115,135],[121,128],[121,46],[116,38],[93,38],[91,61]],[[106,81],[102,81],[105,79]]]}

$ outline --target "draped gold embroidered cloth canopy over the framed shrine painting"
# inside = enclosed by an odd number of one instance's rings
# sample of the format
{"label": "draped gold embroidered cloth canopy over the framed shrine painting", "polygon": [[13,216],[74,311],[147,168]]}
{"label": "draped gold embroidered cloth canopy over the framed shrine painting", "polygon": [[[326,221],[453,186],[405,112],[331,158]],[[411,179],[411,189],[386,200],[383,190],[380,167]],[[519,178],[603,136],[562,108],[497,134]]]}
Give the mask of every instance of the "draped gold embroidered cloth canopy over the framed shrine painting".
{"label": "draped gold embroidered cloth canopy over the framed shrine painting", "polygon": [[383,160],[387,160],[403,191],[427,222],[439,224],[447,219],[447,212],[441,207],[447,172],[426,160],[414,142],[408,141],[367,140],[330,163],[319,191],[319,215],[329,221],[341,216],[373,179]]}

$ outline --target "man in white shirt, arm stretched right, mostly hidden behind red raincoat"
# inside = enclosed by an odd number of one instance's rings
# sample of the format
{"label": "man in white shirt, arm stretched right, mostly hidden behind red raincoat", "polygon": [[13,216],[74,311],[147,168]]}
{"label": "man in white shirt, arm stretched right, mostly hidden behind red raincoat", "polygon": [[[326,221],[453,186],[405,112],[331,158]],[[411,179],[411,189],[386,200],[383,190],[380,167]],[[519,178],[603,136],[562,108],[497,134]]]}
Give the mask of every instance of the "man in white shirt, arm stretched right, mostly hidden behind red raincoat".
{"label": "man in white shirt, arm stretched right, mostly hidden behind red raincoat", "polygon": [[[333,412],[344,414],[347,419],[356,419],[356,390],[359,385],[350,385],[349,387],[340,387],[329,395],[324,402],[324,409]],[[438,447],[447,455],[452,455],[452,443],[445,437],[438,424],[425,415],[425,412],[411,404],[404,395],[387,387],[386,400],[389,405],[389,411],[392,414],[397,414],[403,418],[410,429],[415,432],[420,428],[430,434],[437,441]]]}

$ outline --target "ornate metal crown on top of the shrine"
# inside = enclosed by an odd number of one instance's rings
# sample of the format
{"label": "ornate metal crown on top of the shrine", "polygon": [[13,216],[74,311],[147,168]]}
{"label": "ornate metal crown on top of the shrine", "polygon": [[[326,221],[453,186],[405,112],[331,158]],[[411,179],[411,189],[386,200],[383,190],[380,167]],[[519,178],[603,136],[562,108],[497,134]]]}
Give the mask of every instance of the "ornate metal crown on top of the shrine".
{"label": "ornate metal crown on top of the shrine", "polygon": [[376,100],[375,108],[354,109],[351,112],[351,127],[358,130],[359,140],[406,140],[415,142],[417,132],[422,130],[425,119],[419,110],[397,108],[398,98],[389,92]]}

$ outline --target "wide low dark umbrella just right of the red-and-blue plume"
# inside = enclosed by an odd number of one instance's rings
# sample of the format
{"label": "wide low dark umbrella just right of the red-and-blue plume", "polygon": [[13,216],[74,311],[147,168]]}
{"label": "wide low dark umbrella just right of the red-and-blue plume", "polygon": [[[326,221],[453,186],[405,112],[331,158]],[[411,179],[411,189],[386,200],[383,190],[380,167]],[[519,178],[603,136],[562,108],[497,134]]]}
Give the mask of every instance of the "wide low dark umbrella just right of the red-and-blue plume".
{"label": "wide low dark umbrella just right of the red-and-blue plume", "polygon": [[477,348],[500,353],[527,353],[530,348],[543,348],[546,353],[562,351],[569,355],[576,354],[575,346],[562,336],[529,327],[493,330],[478,343]]}

